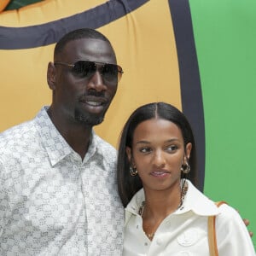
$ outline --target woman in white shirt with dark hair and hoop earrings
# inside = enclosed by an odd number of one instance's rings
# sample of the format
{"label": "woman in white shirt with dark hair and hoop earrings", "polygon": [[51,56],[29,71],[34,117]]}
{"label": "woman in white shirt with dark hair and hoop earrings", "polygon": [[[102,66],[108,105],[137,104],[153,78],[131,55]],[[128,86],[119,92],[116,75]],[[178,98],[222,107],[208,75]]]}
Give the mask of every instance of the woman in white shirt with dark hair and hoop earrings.
{"label": "woman in white shirt with dark hair and hoop earrings", "polygon": [[255,255],[239,214],[196,189],[195,140],[188,120],[164,102],[131,114],[119,142],[123,255],[209,255],[207,220],[216,215],[219,256]]}

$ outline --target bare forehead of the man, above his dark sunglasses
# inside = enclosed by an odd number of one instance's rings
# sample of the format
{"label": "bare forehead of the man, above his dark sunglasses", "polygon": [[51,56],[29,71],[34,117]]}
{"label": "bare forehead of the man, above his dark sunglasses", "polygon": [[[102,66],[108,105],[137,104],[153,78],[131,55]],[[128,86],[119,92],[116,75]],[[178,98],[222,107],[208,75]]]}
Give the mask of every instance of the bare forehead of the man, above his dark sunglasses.
{"label": "bare forehead of the man, above his dark sunglasses", "polygon": [[79,60],[116,63],[112,46],[101,39],[79,38],[68,42],[58,61],[73,63]]}

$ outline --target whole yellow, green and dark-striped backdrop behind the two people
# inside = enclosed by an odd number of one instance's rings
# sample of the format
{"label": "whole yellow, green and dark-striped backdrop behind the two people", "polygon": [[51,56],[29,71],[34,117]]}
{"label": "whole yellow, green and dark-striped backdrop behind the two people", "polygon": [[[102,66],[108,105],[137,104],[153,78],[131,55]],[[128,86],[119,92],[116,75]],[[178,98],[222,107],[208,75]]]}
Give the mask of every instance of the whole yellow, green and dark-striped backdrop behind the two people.
{"label": "whole yellow, green and dark-striped backdrop behind the two people", "polygon": [[176,105],[198,141],[201,189],[239,209],[256,233],[256,2],[84,2],[45,0],[0,14],[0,131],[50,103],[46,67],[55,42],[75,28],[96,28],[113,43],[125,70],[96,131],[116,146],[134,108],[155,101]]}

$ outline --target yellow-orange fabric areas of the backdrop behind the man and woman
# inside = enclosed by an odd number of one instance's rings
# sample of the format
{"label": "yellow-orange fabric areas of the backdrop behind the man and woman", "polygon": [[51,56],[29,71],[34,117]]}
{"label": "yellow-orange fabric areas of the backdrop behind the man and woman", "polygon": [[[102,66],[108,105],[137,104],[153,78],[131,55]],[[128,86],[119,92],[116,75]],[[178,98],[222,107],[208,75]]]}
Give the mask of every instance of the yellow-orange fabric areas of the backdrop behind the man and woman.
{"label": "yellow-orange fabric areas of the backdrop behind the man and woman", "polygon": [[[0,24],[40,26],[102,3],[105,1],[76,0],[74,5],[70,0],[46,0],[18,11],[3,12]],[[137,106],[165,101],[181,109],[177,51],[168,1],[149,1],[98,30],[112,42],[119,65],[125,71],[105,121],[96,127],[100,136],[116,146],[125,119]],[[43,105],[51,102],[46,67],[52,61],[54,45],[0,50],[0,131],[32,119]]]}

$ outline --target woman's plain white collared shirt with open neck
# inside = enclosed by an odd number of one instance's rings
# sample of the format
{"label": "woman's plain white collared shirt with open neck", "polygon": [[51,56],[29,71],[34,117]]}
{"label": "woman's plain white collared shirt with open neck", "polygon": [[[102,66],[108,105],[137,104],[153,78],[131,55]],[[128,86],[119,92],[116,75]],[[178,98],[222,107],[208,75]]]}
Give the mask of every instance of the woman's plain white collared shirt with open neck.
{"label": "woman's plain white collared shirt with open neck", "polygon": [[150,241],[138,214],[144,201],[141,189],[125,209],[124,256],[207,256],[209,255],[207,220],[217,215],[216,236],[219,256],[253,256],[253,242],[240,215],[224,204],[216,207],[188,182],[183,206],[160,224]]}

